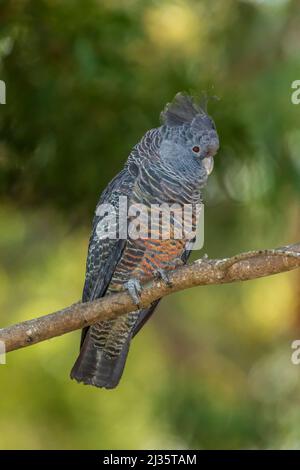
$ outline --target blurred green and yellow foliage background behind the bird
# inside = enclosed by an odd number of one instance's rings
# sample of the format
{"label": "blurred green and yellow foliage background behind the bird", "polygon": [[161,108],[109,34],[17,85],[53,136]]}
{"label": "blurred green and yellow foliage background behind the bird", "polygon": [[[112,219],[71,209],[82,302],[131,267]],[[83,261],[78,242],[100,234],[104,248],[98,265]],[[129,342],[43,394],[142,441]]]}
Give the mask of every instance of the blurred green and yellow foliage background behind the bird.
{"label": "blurred green and yellow foliage background behind the bird", "polygon": [[[299,241],[298,0],[2,0],[0,24],[1,325],[80,298],[99,193],[179,90],[220,98],[204,250]],[[69,380],[78,332],[11,353],[0,448],[299,448],[299,295],[165,299],[115,391]]]}

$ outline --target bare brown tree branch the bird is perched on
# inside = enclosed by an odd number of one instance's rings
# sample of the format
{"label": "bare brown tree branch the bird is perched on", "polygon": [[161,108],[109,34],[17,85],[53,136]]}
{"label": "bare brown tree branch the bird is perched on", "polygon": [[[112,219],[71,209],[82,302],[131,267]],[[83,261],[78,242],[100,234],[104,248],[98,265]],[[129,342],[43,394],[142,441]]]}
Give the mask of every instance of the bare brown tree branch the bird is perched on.
{"label": "bare brown tree branch the bird is perched on", "polygon": [[[190,287],[246,281],[299,267],[300,243],[220,260],[203,258],[170,272],[171,286],[161,280],[144,285],[139,307],[147,307],[154,300]],[[13,351],[136,309],[128,293],[121,292],[0,329],[0,340],[4,341],[7,352]]]}

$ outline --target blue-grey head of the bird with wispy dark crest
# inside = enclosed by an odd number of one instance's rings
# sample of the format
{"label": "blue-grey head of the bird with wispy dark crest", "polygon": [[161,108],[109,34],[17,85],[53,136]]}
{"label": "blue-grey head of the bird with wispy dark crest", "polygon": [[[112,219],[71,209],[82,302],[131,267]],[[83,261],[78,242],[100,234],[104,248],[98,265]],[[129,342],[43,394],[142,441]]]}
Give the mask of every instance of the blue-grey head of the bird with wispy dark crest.
{"label": "blue-grey head of the bird with wispy dark crest", "polygon": [[212,118],[186,94],[178,93],[161,113],[160,157],[173,170],[198,175],[205,183],[213,170],[219,137]]}

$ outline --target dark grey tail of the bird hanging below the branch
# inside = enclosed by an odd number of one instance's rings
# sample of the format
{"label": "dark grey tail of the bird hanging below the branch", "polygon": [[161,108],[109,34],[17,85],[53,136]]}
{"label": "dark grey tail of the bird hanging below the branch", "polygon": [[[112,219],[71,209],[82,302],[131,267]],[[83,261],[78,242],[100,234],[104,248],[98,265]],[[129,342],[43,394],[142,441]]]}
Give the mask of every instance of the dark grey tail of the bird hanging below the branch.
{"label": "dark grey tail of the bird hanging below the branch", "polygon": [[88,330],[80,354],[72,368],[71,378],[96,387],[115,388],[123,374],[131,336],[126,339],[121,352],[110,357],[97,347]]}

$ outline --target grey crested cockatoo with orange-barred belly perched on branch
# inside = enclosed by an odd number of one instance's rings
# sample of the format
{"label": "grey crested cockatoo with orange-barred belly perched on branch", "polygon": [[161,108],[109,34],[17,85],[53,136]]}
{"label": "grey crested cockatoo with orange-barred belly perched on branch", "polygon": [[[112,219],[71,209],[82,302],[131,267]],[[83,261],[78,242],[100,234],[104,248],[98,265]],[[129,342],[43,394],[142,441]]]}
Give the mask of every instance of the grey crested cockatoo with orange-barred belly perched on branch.
{"label": "grey crested cockatoo with orange-barred belly perched on branch", "polygon": [[[161,235],[161,223],[147,225],[146,237],[103,236],[113,232],[116,221],[104,222],[101,213],[108,206],[118,213],[120,199],[128,207],[159,210],[163,203],[202,203],[202,188],[213,168],[219,149],[215,123],[206,109],[191,95],[180,92],[160,114],[160,126],[148,130],[133,147],[124,168],[108,184],[98,202],[92,224],[86,262],[82,302],[128,290],[136,310],[116,319],[99,321],[82,330],[80,352],[71,378],[85,385],[115,388],[123,374],[131,340],[144,326],[159,300],[139,308],[143,283],[160,277],[169,282],[168,273],[186,264],[193,239],[174,236],[176,217],[171,217],[170,234]],[[126,214],[127,222],[133,217]],[[195,217],[190,225],[195,228]],[[141,222],[143,224],[143,222]],[[119,230],[120,231],[120,230]]]}

